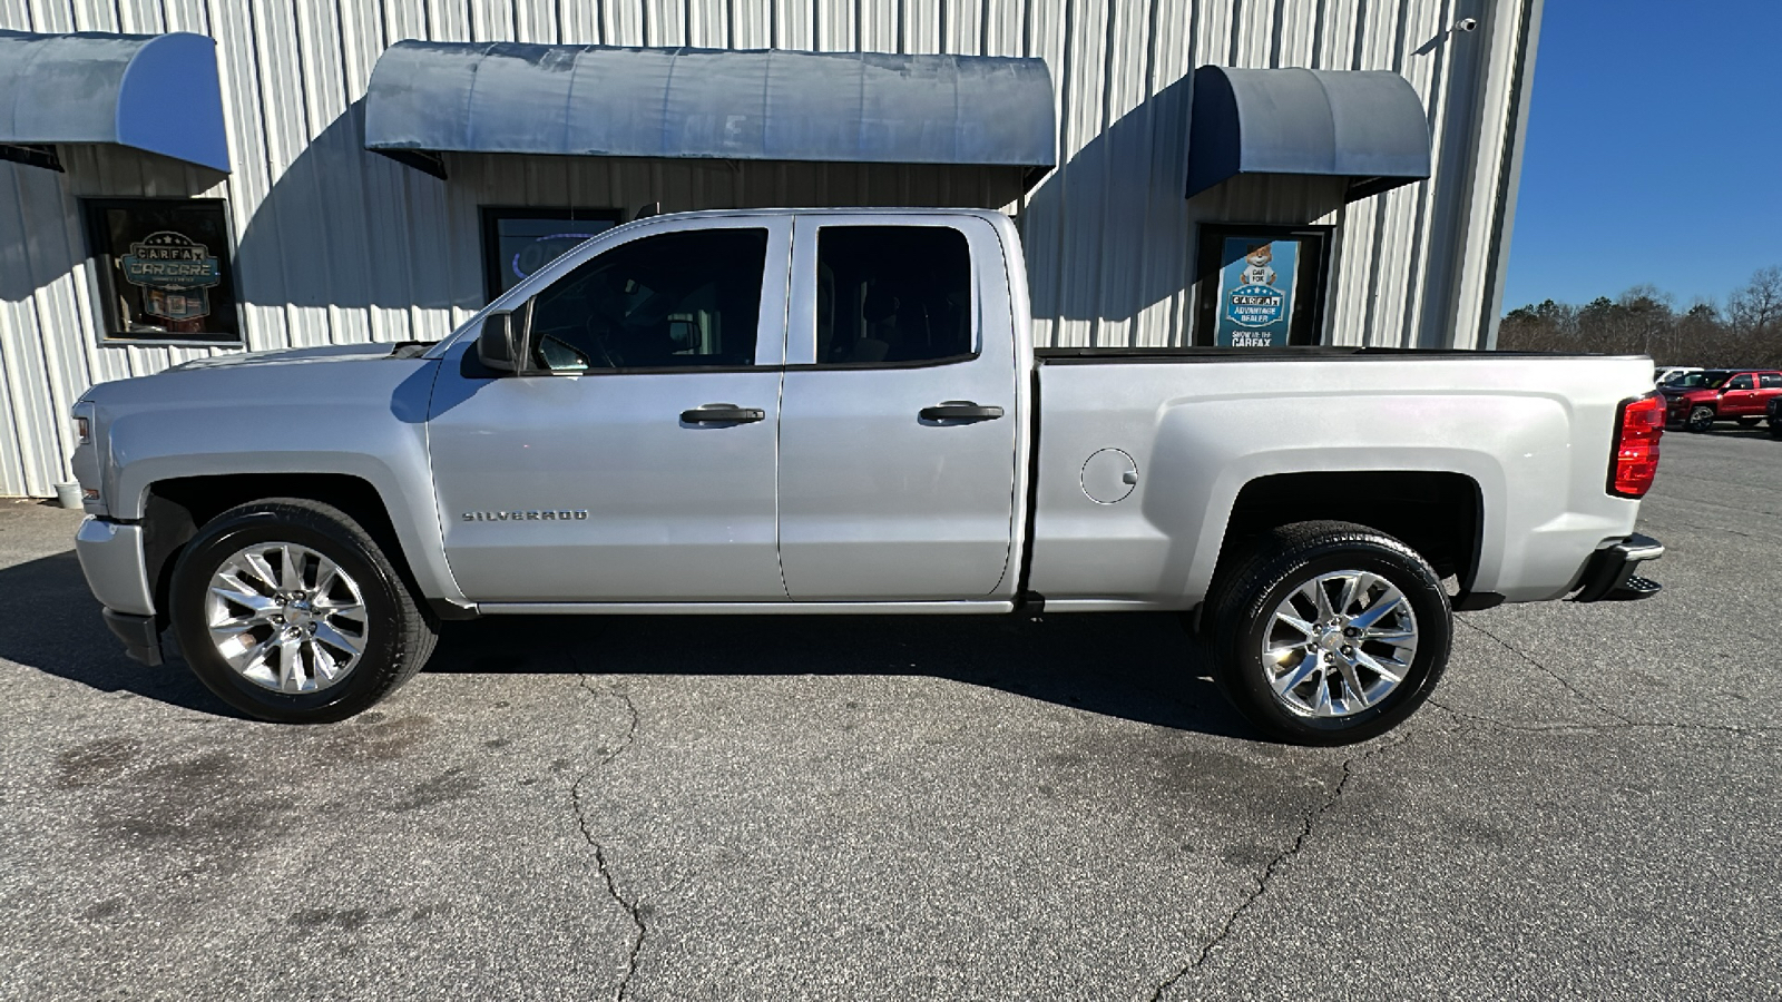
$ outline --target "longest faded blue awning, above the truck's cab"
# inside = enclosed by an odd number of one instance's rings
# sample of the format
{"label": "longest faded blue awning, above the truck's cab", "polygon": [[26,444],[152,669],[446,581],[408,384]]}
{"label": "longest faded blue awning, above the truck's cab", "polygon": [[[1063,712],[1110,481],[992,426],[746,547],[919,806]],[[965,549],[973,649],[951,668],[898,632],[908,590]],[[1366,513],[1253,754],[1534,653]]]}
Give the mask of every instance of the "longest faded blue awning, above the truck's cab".
{"label": "longest faded blue awning, above the truck's cab", "polygon": [[1057,162],[1039,59],[399,41],[365,148],[870,164]]}

